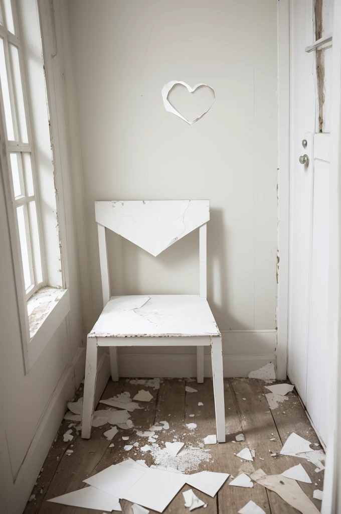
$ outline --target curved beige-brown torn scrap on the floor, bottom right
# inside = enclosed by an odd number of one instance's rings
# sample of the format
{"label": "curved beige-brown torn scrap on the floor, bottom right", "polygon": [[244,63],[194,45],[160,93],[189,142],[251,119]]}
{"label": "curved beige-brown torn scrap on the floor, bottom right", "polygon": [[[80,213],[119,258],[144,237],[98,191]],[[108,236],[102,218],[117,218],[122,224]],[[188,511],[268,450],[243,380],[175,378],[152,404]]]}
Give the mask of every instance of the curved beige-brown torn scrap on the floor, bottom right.
{"label": "curved beige-brown torn scrap on the floor, bottom right", "polygon": [[307,494],[299,487],[296,480],[288,479],[283,475],[265,475],[256,482],[276,492],[284,501],[302,514],[317,514],[319,512],[313,502],[309,500]]}

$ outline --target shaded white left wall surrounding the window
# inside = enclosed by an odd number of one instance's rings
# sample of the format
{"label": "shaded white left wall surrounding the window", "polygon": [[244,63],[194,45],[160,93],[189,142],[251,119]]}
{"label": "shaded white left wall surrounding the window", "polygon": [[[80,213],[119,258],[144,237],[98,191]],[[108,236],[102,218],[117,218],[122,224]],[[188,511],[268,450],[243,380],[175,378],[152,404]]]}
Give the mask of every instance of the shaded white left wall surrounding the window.
{"label": "shaded white left wall surrounding the window", "polygon": [[[42,0],[41,5],[44,2]],[[45,5],[48,4],[45,2]],[[59,4],[59,1],[55,2],[57,29],[60,30]],[[46,22],[46,18],[44,20]],[[60,36],[58,39],[61,42]],[[20,514],[23,511],[65,413],[66,402],[72,398],[75,386],[82,378],[79,367],[84,368],[84,352],[79,350],[82,345],[82,314],[64,93],[58,89],[59,81],[63,78],[61,47],[60,44],[54,57],[55,81],[52,89],[55,88],[56,97],[53,90],[50,92],[56,98],[58,107],[56,116],[52,117],[52,128],[55,137],[59,134],[59,148],[55,148],[55,151],[58,151],[61,162],[60,179],[64,186],[64,195],[62,191],[59,191],[59,195],[64,198],[67,221],[62,240],[67,241],[67,254],[64,247],[63,256],[65,267],[68,268],[67,287],[71,309],[27,375],[24,372],[13,259],[0,173],[0,475],[2,484],[6,484],[0,487],[0,510],[8,514]],[[0,171],[9,173],[8,170]],[[75,354],[80,355],[79,361]]]}

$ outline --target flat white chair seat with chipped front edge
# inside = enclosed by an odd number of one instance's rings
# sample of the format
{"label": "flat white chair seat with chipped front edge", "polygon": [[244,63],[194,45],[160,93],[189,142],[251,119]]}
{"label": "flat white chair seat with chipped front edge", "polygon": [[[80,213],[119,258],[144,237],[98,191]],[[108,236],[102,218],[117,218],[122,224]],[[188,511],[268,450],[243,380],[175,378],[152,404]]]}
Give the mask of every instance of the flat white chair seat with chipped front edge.
{"label": "flat white chair seat with chipped front edge", "polygon": [[199,295],[113,296],[88,337],[220,336]]}

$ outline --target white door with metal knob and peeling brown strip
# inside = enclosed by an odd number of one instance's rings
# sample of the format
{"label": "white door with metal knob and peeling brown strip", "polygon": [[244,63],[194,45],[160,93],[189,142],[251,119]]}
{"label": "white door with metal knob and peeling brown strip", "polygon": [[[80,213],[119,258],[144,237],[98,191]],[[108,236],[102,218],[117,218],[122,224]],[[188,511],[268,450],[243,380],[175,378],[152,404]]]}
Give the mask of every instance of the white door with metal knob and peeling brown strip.
{"label": "white door with metal knob and peeling brown strip", "polygon": [[288,375],[327,444],[331,0],[291,0],[290,24]]}

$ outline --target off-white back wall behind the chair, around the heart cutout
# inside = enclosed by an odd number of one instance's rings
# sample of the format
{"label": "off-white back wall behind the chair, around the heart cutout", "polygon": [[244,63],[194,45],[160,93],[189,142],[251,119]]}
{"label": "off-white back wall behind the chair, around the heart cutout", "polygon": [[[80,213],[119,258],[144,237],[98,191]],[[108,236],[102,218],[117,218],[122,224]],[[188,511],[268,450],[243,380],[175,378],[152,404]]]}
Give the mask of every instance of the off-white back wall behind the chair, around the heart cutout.
{"label": "off-white back wall behind the chair, around the heart cutout", "polygon": [[[253,355],[272,359],[276,345],[276,1],[72,0],[70,13],[87,331],[102,307],[94,201],[209,198],[209,302],[224,353],[258,368]],[[213,86],[211,111],[192,126],[166,113],[161,88],[170,80]],[[180,86],[170,99],[185,114],[210,101],[207,90],[188,96]],[[112,235],[112,294],[198,292],[197,249],[192,233],[153,258]]]}

